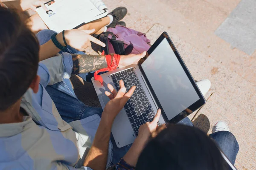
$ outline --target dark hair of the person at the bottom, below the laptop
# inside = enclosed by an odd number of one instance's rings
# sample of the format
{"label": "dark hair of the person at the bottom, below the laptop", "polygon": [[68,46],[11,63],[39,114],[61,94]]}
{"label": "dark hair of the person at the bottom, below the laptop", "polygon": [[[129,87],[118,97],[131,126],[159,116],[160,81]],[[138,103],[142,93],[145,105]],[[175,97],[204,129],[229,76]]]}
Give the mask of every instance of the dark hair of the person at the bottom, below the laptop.
{"label": "dark hair of the person at the bottom, below the laptop", "polygon": [[169,125],[148,142],[136,170],[227,170],[227,163],[203,131]]}

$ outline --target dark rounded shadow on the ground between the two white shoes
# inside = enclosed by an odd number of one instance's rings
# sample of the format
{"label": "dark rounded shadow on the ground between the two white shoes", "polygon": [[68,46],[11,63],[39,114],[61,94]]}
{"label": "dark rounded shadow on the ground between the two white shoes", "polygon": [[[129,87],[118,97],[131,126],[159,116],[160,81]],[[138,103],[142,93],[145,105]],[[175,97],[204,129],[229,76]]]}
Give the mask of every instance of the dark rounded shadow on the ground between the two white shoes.
{"label": "dark rounded shadow on the ground between the two white shoes", "polygon": [[194,120],[192,120],[195,127],[203,130],[205,133],[207,133],[210,129],[210,121],[207,116],[204,114],[198,115],[198,117]]}

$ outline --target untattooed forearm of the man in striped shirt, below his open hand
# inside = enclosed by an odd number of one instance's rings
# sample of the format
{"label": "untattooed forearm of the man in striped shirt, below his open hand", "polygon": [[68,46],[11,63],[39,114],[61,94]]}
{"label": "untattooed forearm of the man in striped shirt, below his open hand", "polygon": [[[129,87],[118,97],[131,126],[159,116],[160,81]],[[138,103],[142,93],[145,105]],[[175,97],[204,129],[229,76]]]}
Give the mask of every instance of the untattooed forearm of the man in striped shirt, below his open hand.
{"label": "untattooed forearm of the man in striped shirt, below his open hand", "polygon": [[106,169],[111,126],[112,123],[101,120],[92,147],[84,160],[84,166],[93,170]]}

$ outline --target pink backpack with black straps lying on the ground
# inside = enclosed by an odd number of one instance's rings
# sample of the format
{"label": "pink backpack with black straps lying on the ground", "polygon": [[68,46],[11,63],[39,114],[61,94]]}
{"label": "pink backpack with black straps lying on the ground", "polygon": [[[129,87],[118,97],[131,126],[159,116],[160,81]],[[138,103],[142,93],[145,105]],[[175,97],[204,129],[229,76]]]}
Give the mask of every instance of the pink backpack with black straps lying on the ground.
{"label": "pink backpack with black straps lying on the ground", "polygon": [[150,48],[150,40],[145,34],[119,25],[116,28],[108,28],[100,35],[99,40],[106,44],[102,49],[105,54],[140,54]]}

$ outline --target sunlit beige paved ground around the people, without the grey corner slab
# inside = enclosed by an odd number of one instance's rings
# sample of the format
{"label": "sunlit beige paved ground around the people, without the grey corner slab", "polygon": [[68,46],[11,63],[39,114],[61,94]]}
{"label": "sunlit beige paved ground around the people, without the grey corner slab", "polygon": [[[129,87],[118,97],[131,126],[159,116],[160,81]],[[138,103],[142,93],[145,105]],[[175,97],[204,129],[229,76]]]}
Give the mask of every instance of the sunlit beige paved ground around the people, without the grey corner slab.
{"label": "sunlit beige paved ground around the people, without the grey corner slab", "polygon": [[[247,55],[215,35],[240,0],[104,1],[110,10],[128,8],[123,19],[127,27],[146,33],[152,43],[163,31],[168,32],[193,77],[212,82],[206,105],[189,118],[207,133],[218,120],[227,122],[239,142],[236,167],[255,170],[256,53]],[[74,85],[81,83],[74,80]],[[87,104],[98,105],[93,87],[83,83],[84,86],[75,87],[79,97]],[[87,88],[95,102],[81,93]]]}

